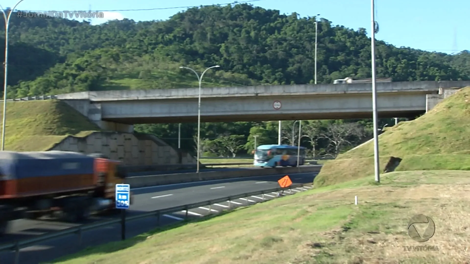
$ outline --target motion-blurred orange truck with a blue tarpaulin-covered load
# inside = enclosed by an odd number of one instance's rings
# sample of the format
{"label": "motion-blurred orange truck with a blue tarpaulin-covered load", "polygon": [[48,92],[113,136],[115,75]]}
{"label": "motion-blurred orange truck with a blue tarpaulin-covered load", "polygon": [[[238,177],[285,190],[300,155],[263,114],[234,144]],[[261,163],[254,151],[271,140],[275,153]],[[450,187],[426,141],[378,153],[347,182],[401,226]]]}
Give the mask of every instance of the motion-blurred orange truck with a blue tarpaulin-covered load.
{"label": "motion-blurred orange truck with a blue tarpaulin-covered load", "polygon": [[120,161],[100,155],[0,151],[0,235],[16,219],[81,222],[94,212],[112,211],[115,186],[125,177]]}

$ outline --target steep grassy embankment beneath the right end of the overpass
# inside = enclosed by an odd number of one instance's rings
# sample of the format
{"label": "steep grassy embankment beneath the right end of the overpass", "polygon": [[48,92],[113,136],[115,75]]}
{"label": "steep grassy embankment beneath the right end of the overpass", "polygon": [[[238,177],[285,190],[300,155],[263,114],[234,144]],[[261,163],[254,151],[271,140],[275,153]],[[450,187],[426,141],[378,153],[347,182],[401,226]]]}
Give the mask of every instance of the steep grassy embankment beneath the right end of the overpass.
{"label": "steep grassy embankment beneath the right end of the overpass", "polygon": [[[380,170],[391,156],[396,171],[470,170],[470,87],[462,88],[419,118],[400,122],[379,137]],[[324,164],[315,186],[374,174],[374,142]]]}

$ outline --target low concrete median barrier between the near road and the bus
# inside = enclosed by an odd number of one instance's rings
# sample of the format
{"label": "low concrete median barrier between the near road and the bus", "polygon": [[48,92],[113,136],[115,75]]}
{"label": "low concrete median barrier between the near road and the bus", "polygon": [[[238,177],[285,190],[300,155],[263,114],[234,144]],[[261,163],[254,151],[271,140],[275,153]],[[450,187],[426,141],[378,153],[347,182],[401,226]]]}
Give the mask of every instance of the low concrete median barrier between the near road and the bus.
{"label": "low concrete median barrier between the near road and the bus", "polygon": [[255,176],[267,176],[277,174],[290,174],[290,173],[305,173],[305,172],[319,172],[321,165],[309,165],[301,167],[287,167],[287,168],[263,168],[255,170],[240,170],[240,171],[205,171],[205,172],[189,172],[189,173],[174,173],[174,174],[159,174],[159,175],[146,175],[134,176],[125,179],[125,183],[130,184],[132,188],[141,188],[148,186],[159,186],[176,183],[186,183],[214,179],[231,179]]}

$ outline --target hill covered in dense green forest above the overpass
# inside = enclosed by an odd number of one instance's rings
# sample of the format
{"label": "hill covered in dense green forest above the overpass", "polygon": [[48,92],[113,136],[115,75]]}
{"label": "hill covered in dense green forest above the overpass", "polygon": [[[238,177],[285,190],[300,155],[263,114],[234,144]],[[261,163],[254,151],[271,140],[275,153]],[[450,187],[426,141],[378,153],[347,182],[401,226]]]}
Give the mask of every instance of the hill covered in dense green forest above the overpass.
{"label": "hill covered in dense green forest above the overpass", "polygon": [[[193,74],[180,70],[181,65],[202,69],[219,64],[220,70],[207,73],[206,85],[312,83],[314,21],[248,4],[189,8],[166,21],[125,19],[96,26],[13,14],[9,96],[195,85]],[[321,19],[318,42],[319,83],[370,77],[365,29],[354,31]],[[469,52],[430,53],[383,41],[376,49],[378,77],[470,76]]]}

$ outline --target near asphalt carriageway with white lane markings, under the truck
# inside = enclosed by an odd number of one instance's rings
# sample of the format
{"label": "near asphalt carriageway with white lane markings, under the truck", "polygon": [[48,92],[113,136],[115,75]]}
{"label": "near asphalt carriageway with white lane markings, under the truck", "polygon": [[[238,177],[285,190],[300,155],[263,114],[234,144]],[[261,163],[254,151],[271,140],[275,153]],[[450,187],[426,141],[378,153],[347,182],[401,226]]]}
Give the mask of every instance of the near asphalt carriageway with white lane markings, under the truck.
{"label": "near asphalt carriageway with white lane markings, under the truck", "polygon": [[[293,184],[311,183],[317,173],[296,173],[290,174]],[[217,199],[229,195],[243,194],[247,192],[261,191],[279,186],[277,180],[284,175],[258,176],[250,178],[211,180],[203,182],[191,182],[173,184],[165,186],[153,186],[133,189],[134,204],[127,211],[129,216],[143,212],[164,209],[174,206],[185,205],[193,202],[203,202],[210,199]],[[292,193],[305,191],[309,187],[297,188]],[[265,200],[274,199],[278,194],[265,194]],[[248,200],[248,201],[247,201]],[[262,202],[261,196],[250,196],[248,199],[240,198],[231,201],[231,207],[244,206],[248,203]],[[188,211],[188,217],[201,217],[209,213],[215,214],[228,209],[228,201],[220,202],[207,207],[199,207]],[[211,211],[210,211],[211,210]],[[176,223],[185,217],[185,211],[176,212],[160,217],[160,225]],[[111,216],[96,216],[89,222],[104,220]],[[32,236],[65,229],[77,224],[63,223],[57,221],[39,221],[21,219],[12,222],[9,232],[0,239],[0,244],[30,238]],[[157,217],[147,217],[130,221],[126,224],[126,237],[132,237],[148,232],[157,226]],[[110,241],[120,240],[120,225],[103,227],[84,232],[81,243],[77,235],[69,235],[50,241],[45,241],[40,245],[21,249],[19,263],[38,264],[51,261],[57,257],[78,252],[89,246],[99,245]],[[0,252],[1,264],[13,264],[14,256],[12,252]]]}

